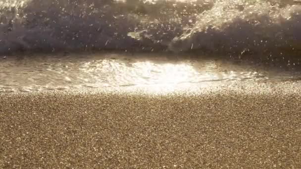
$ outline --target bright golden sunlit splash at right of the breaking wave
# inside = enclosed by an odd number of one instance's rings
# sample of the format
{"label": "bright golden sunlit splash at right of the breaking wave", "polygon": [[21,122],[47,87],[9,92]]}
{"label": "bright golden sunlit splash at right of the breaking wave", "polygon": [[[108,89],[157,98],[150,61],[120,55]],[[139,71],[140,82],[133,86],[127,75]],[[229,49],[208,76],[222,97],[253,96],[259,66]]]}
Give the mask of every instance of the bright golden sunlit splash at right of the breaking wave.
{"label": "bright golden sunlit splash at right of the breaking wave", "polygon": [[220,53],[300,50],[300,10],[300,5],[289,3],[218,0],[186,33],[176,37],[173,45],[187,50],[194,44],[197,49]]}

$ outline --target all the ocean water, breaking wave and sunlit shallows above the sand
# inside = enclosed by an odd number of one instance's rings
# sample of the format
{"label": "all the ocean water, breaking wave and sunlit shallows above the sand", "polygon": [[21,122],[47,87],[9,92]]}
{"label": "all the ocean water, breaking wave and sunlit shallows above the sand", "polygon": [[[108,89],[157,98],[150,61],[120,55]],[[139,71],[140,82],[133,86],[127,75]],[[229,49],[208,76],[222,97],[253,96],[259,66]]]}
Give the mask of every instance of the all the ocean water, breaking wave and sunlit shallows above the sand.
{"label": "all the ocean water, breaking wave and sunlit shallows above the sand", "polygon": [[0,92],[298,81],[300,12],[298,0],[1,0]]}

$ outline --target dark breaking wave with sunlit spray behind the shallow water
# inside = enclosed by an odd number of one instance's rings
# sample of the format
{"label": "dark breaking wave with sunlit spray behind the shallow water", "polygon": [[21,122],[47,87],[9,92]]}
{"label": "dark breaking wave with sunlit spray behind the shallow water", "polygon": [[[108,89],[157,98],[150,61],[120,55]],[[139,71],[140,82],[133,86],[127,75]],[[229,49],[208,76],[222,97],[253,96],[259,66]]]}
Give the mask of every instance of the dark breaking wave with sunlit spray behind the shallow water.
{"label": "dark breaking wave with sunlit spray behind the shallow water", "polygon": [[134,50],[293,54],[293,0],[2,0],[0,54]]}

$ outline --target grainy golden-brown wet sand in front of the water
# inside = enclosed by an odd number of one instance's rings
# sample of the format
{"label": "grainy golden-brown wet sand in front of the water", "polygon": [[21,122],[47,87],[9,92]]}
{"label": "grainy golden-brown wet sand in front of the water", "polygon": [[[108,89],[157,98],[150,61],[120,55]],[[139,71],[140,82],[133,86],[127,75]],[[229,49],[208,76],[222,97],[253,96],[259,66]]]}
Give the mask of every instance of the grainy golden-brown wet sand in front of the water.
{"label": "grainy golden-brown wet sand in front of the water", "polygon": [[0,168],[298,169],[301,94],[277,90],[2,94]]}

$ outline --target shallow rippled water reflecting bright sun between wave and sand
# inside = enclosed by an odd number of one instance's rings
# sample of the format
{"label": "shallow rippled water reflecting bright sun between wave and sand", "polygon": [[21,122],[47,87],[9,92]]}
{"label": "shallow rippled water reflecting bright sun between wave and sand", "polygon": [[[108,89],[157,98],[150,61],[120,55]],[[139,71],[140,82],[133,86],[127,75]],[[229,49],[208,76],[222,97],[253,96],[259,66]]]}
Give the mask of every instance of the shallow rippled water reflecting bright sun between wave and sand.
{"label": "shallow rippled water reflecting bright sun between wave and sand", "polygon": [[219,59],[168,59],[156,54],[23,56],[0,60],[0,92],[122,86],[187,87],[224,82],[290,80],[299,73],[263,71]]}

